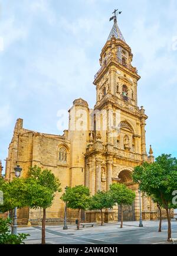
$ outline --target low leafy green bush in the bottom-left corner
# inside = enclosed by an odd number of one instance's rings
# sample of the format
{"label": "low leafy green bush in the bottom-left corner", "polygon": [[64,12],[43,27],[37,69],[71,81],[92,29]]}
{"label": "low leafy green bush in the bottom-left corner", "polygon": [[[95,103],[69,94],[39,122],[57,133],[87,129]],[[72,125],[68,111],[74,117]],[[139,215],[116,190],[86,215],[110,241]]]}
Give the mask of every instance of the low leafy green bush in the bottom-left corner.
{"label": "low leafy green bush in the bottom-left corner", "polygon": [[24,240],[27,239],[29,234],[19,233],[18,235],[11,235],[9,231],[11,222],[9,218],[0,218],[0,244],[24,244]]}

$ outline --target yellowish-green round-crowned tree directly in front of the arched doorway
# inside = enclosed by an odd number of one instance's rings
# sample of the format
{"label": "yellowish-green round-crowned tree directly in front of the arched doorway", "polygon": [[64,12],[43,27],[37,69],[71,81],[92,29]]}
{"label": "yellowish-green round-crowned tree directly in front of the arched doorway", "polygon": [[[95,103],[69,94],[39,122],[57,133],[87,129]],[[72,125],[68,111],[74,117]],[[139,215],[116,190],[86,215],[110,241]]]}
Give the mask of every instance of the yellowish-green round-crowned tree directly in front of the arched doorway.
{"label": "yellowish-green round-crowned tree directly in front of the arched doorway", "polygon": [[110,185],[110,191],[114,203],[117,203],[121,208],[121,224],[120,228],[123,228],[123,206],[131,205],[135,199],[135,192],[130,190],[124,184],[114,183]]}

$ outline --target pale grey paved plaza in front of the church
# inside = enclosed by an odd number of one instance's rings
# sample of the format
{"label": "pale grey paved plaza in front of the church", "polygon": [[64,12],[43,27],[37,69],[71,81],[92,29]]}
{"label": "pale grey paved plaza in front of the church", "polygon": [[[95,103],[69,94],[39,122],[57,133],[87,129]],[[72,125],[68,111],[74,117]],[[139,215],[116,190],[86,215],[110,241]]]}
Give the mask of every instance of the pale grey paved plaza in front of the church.
{"label": "pale grey paved plaza in front of the church", "polygon": [[[46,226],[47,244],[172,244],[166,241],[168,223],[162,222],[162,232],[158,232],[159,221],[144,221],[143,228],[139,222],[104,223],[94,227]],[[18,228],[18,233],[30,233],[25,244],[41,243],[41,226]],[[172,237],[177,238],[177,221],[172,220]]]}

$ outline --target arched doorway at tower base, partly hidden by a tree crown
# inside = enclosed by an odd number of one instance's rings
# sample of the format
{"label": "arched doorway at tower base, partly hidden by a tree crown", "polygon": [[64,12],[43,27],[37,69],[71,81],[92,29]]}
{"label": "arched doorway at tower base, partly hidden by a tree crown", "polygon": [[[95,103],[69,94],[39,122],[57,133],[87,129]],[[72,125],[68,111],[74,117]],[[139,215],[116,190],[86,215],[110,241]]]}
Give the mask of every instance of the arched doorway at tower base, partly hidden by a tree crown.
{"label": "arched doorway at tower base, partly hidden by a tree crown", "polygon": [[[117,182],[126,185],[128,188],[135,190],[135,185],[132,180],[132,172],[124,169],[119,172],[117,177]],[[117,209],[117,219],[120,221],[121,219],[121,207],[119,206]],[[135,201],[133,201],[130,206],[123,206],[123,221],[133,221],[135,220]]]}

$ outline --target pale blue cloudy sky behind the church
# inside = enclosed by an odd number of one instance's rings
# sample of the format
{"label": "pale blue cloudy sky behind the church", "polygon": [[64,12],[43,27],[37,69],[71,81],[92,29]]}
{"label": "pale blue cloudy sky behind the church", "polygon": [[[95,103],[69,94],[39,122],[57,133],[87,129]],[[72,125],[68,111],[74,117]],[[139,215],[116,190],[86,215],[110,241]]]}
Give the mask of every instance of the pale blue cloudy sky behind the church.
{"label": "pale blue cloudy sky behind the church", "polygon": [[[118,24],[141,76],[146,146],[177,157],[176,0],[0,0],[0,159],[8,155],[15,121],[63,134],[60,113],[76,98],[93,108],[94,75],[119,9]],[[59,114],[58,114],[59,113]]]}

